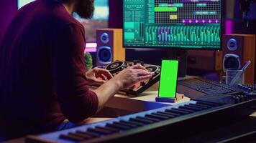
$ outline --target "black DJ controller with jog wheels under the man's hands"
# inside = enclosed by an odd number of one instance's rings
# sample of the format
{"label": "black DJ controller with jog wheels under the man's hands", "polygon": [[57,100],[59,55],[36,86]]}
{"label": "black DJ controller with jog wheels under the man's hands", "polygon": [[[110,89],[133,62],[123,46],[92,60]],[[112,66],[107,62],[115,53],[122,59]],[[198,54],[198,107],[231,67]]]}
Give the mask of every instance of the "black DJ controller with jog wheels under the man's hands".
{"label": "black DJ controller with jog wheels under the man's hands", "polygon": [[152,64],[144,64],[143,61],[140,60],[134,60],[134,61],[114,61],[113,63],[109,64],[106,66],[106,69],[113,75],[113,77],[118,74],[120,71],[126,69],[129,66],[137,65],[140,64],[147,69],[147,71],[150,71],[153,74],[152,78],[139,82],[135,84],[132,89],[125,89],[122,90],[122,92],[129,94],[129,95],[134,95],[138,96],[142,92],[144,92],[146,89],[150,88],[153,84],[159,81],[160,79],[160,66],[152,65]]}

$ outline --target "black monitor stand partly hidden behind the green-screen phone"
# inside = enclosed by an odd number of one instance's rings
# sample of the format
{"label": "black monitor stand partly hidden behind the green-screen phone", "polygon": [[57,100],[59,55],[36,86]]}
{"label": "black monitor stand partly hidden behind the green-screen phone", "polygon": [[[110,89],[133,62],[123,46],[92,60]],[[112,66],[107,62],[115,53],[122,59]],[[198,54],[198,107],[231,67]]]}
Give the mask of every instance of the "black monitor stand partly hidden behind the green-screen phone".
{"label": "black monitor stand partly hidden behind the green-screen phone", "polygon": [[187,74],[187,50],[186,49],[170,49],[170,59],[178,59],[178,77],[186,77]]}

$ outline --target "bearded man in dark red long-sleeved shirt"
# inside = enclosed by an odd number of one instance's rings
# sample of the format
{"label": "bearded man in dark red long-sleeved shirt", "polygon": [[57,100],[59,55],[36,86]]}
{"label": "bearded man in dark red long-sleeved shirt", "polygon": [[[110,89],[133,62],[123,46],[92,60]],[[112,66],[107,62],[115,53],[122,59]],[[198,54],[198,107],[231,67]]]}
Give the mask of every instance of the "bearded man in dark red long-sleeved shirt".
{"label": "bearded man in dark red long-sleeved shirt", "polygon": [[[34,134],[73,127],[120,89],[152,77],[142,66],[131,66],[114,78],[104,69],[86,73],[85,31],[71,14],[89,19],[93,9],[93,0],[37,0],[18,11],[0,49],[4,129]],[[88,89],[95,83],[102,85]]]}

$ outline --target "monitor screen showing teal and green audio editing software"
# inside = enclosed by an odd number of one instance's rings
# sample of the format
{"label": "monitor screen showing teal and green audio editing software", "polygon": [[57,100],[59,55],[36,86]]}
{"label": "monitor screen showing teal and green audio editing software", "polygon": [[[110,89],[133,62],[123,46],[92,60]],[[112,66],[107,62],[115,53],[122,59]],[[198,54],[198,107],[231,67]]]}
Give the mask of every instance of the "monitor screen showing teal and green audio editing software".
{"label": "monitor screen showing teal and green audio editing software", "polygon": [[124,46],[221,48],[221,0],[124,0]]}

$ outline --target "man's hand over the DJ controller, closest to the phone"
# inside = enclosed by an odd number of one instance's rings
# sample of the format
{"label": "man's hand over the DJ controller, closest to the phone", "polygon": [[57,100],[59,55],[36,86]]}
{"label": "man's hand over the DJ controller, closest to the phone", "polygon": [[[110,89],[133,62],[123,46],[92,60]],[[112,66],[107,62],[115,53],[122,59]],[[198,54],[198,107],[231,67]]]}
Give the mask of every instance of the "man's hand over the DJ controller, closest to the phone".
{"label": "man's hand over the DJ controller, closest to the phone", "polygon": [[120,89],[129,89],[137,82],[148,80],[151,77],[151,72],[147,71],[144,66],[137,64],[124,69],[113,80],[119,83]]}

